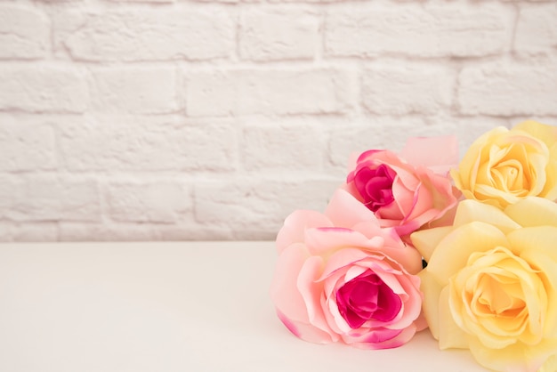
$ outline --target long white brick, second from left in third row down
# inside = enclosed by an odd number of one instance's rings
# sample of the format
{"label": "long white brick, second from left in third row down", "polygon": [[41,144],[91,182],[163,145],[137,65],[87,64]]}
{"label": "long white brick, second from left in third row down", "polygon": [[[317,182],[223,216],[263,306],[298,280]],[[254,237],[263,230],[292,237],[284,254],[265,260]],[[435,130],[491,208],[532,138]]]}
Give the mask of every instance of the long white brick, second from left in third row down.
{"label": "long white brick, second from left in third row down", "polygon": [[88,117],[60,125],[62,164],[72,171],[236,169],[234,123],[180,117]]}

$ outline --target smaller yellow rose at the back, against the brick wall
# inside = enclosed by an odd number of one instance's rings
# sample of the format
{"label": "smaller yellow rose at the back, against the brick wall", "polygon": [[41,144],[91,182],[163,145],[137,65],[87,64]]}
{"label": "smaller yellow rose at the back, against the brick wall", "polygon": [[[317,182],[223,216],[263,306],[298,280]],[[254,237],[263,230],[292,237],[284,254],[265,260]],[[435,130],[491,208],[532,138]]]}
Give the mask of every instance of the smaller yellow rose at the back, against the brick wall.
{"label": "smaller yellow rose at the back, against the brick wall", "polygon": [[557,199],[557,127],[525,121],[472,143],[451,170],[465,198],[505,208],[521,198]]}

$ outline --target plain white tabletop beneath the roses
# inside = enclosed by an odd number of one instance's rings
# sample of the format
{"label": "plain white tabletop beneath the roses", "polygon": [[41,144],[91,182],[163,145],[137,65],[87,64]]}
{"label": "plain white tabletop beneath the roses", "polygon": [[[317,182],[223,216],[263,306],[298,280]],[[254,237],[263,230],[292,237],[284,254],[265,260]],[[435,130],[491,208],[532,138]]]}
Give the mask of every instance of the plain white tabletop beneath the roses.
{"label": "plain white tabletop beneath the roses", "polygon": [[273,242],[0,245],[0,371],[484,371],[428,331],[364,351],[275,316]]}

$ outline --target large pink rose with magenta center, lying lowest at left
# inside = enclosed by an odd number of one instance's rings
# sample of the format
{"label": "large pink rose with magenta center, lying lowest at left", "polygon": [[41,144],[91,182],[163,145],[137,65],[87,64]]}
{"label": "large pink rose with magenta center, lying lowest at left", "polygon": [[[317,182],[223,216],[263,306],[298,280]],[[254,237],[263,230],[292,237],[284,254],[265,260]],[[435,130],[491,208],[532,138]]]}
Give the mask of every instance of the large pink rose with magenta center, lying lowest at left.
{"label": "large pink rose with magenta center, lying lowest at left", "polygon": [[314,343],[383,349],[424,328],[422,257],[344,190],[325,214],[295,211],[278,232],[271,298],[278,318]]}

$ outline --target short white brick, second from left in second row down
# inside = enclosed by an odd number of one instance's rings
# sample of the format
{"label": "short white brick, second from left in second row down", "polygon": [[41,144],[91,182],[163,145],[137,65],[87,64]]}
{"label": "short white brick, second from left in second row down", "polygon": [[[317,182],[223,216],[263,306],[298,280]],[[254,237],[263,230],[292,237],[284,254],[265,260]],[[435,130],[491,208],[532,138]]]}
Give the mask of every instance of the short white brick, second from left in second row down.
{"label": "short white brick, second from left in second row down", "polygon": [[92,107],[99,112],[164,114],[176,112],[173,68],[103,68],[93,70]]}

